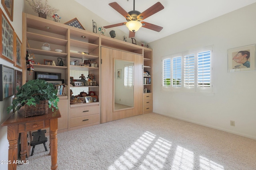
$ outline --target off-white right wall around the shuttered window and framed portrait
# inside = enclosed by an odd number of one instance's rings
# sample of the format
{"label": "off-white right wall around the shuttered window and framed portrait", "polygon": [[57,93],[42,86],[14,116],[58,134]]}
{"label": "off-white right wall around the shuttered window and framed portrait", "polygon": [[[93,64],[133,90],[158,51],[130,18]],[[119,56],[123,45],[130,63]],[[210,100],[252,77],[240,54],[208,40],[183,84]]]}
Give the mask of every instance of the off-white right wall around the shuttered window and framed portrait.
{"label": "off-white right wall around the shuttered window and framed portrait", "polygon": [[[255,9],[256,3],[150,43],[155,113],[256,139],[256,71],[227,71],[228,49],[256,44]],[[161,91],[162,56],[210,45],[214,45],[214,95]]]}

